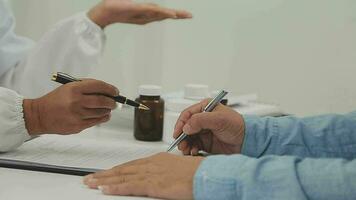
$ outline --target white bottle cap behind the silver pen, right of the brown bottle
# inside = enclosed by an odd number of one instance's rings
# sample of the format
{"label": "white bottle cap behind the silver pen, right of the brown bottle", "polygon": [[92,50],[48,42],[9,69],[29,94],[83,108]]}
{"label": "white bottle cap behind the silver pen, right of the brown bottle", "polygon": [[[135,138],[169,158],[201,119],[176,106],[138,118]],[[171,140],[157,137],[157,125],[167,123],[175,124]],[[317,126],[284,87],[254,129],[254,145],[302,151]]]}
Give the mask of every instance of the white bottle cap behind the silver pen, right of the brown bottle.
{"label": "white bottle cap behind the silver pen, right of the brown bottle", "polygon": [[193,100],[202,100],[209,98],[209,86],[199,84],[187,84],[184,87],[184,98]]}

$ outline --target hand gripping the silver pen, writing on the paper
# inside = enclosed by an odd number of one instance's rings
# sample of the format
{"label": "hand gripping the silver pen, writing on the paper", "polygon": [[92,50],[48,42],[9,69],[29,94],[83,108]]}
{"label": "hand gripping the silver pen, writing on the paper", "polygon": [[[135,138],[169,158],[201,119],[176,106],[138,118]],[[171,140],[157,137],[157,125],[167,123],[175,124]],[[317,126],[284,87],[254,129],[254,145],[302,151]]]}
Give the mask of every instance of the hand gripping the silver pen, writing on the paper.
{"label": "hand gripping the silver pen, writing on the paper", "polygon": [[245,129],[242,116],[222,104],[213,112],[202,112],[208,103],[204,100],[181,113],[173,136],[178,138],[184,132],[190,137],[179,143],[179,150],[185,155],[197,155],[200,150],[212,154],[240,153]]}

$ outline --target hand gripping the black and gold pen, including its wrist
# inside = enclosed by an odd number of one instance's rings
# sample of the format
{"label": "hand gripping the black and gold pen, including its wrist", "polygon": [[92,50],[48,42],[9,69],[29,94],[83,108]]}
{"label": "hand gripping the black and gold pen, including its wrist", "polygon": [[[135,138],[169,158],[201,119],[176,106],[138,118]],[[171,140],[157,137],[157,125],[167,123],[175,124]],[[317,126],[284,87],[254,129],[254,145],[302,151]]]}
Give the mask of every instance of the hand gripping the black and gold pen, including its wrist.
{"label": "hand gripping the black and gold pen, including its wrist", "polygon": [[[97,95],[98,93],[104,95]],[[25,126],[30,135],[74,134],[110,120],[116,87],[87,79],[62,85],[36,99],[24,99]]]}

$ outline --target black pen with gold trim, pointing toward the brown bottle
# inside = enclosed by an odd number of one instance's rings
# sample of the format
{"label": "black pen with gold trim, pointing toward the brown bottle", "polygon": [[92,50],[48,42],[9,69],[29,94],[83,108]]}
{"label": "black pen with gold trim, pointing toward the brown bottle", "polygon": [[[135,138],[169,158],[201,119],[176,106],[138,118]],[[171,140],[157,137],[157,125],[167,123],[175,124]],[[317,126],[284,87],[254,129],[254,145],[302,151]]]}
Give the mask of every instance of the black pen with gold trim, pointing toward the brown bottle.
{"label": "black pen with gold trim, pointing toward the brown bottle", "polygon": [[[73,76],[68,75],[66,73],[63,73],[63,72],[57,72],[57,73],[53,74],[52,81],[55,81],[55,82],[58,82],[58,83],[62,83],[62,84],[67,84],[67,83],[70,83],[70,82],[81,81],[81,80],[77,79],[77,78],[74,78]],[[128,99],[128,98],[126,98],[124,96],[121,96],[121,95],[118,95],[118,96],[104,95],[104,96],[112,98],[116,102],[119,102],[119,103],[122,103],[122,104],[127,104],[127,105],[133,106],[133,107],[141,109],[141,110],[149,110],[149,108],[147,106],[143,105],[142,103],[138,103],[136,101],[133,101],[133,100]]]}

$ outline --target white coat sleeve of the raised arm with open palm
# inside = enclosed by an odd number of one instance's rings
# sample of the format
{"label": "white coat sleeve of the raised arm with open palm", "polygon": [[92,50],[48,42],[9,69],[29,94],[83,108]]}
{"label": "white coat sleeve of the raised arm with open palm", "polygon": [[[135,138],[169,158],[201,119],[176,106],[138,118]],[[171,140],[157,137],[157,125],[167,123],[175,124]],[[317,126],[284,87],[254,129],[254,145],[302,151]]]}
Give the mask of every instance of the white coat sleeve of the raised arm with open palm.
{"label": "white coat sleeve of the raised arm with open palm", "polygon": [[85,77],[98,65],[105,35],[86,13],[65,19],[49,30],[40,41],[0,78],[2,87],[25,98],[37,98],[53,90],[57,71]]}

